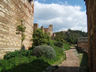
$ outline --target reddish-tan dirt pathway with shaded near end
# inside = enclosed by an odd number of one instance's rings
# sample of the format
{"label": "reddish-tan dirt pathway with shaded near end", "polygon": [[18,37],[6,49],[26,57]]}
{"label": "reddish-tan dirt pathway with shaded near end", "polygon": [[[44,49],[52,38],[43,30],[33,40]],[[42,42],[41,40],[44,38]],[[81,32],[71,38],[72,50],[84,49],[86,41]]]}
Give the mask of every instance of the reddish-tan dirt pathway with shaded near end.
{"label": "reddish-tan dirt pathway with shaded near end", "polygon": [[66,60],[59,65],[55,72],[79,72],[80,60],[77,57],[76,49],[66,51]]}

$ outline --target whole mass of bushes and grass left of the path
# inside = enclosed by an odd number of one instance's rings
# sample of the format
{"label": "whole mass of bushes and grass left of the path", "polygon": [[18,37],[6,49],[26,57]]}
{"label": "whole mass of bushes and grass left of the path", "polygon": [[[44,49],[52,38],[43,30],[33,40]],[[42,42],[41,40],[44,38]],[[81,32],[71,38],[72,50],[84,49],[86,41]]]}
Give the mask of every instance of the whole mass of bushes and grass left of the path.
{"label": "whole mass of bushes and grass left of the path", "polygon": [[0,72],[42,72],[66,59],[64,51],[68,49],[69,44],[51,40],[48,34],[38,29],[33,35],[32,49],[7,53],[0,60]]}

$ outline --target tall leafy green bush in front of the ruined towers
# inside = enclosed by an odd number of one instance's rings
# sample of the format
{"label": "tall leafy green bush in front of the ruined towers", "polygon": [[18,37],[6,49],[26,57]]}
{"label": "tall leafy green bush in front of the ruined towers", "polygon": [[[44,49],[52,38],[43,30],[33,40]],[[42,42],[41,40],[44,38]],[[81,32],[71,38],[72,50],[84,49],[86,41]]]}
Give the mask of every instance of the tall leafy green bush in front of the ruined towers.
{"label": "tall leafy green bush in front of the ruined towers", "polygon": [[33,34],[33,46],[48,44],[49,40],[48,34],[43,33],[41,29],[37,29]]}

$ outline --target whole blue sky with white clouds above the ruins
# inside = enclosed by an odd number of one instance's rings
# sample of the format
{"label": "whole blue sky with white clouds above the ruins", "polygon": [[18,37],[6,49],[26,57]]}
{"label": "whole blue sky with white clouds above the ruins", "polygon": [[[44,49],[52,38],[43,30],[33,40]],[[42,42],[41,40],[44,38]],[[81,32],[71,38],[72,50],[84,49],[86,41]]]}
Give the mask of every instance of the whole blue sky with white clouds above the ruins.
{"label": "whole blue sky with white clouds above the ruins", "polygon": [[68,29],[87,32],[87,15],[84,0],[35,0],[34,23],[53,31]]}

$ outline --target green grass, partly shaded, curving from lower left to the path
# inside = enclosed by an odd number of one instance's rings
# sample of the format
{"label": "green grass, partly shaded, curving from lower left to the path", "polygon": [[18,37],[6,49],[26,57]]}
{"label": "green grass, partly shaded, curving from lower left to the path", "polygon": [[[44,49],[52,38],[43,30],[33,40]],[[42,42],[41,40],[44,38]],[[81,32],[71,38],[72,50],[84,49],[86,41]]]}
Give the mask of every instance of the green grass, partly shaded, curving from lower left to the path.
{"label": "green grass, partly shaded, curving from lower left to the path", "polygon": [[22,55],[8,59],[0,60],[0,72],[42,72],[46,67],[53,64],[60,64],[63,60],[66,59],[66,54],[64,50],[69,49],[68,44],[64,44],[64,48],[57,46],[52,46],[56,51],[56,58],[47,59],[45,57],[35,57],[32,55],[26,56],[25,52],[16,52]]}

